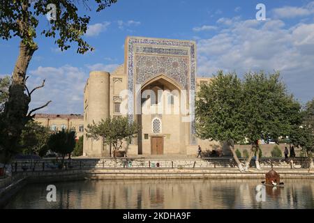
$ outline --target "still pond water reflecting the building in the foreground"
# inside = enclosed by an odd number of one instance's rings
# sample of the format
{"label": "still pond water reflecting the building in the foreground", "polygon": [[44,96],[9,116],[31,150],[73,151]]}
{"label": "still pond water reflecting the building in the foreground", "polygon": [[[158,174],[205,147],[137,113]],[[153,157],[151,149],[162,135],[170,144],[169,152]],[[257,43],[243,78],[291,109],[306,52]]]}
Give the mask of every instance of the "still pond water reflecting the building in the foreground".
{"label": "still pond water reflecting the building in the foreground", "polygon": [[314,208],[314,179],[284,182],[263,197],[258,179],[73,181],[54,183],[56,202],[47,201],[47,184],[29,184],[6,208]]}

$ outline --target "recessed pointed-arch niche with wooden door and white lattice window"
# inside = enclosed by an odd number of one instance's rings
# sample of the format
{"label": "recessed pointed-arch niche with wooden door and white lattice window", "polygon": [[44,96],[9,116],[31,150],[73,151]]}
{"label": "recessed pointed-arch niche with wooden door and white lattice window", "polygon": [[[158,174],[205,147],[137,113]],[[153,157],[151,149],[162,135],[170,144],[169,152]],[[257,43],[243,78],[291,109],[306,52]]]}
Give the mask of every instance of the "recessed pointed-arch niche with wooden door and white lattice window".
{"label": "recessed pointed-arch niche with wooden door and white lattice window", "polygon": [[137,95],[138,154],[180,153],[186,125],[181,123],[182,87],[173,79],[159,75],[147,81]]}

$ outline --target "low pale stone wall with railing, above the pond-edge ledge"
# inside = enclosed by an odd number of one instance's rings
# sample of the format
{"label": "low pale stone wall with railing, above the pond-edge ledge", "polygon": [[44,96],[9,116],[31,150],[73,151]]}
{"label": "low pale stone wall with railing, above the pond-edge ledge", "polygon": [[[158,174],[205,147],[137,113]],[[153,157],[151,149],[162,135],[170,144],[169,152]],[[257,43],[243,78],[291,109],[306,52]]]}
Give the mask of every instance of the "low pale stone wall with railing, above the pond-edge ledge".
{"label": "low pale stone wall with railing, above the pond-edge ledge", "polygon": [[[241,160],[241,159],[240,159]],[[287,168],[292,169],[308,168],[309,162],[303,157],[293,160],[293,165],[289,160],[262,158],[260,166],[262,168]],[[245,160],[241,160],[245,163]],[[23,171],[49,171],[58,169],[55,160],[17,160],[13,162],[13,173]],[[159,169],[186,169],[186,168],[223,168],[237,167],[232,158],[209,158],[209,159],[165,159],[165,158],[118,158],[117,162],[113,158],[103,159],[73,159],[66,160],[64,169],[115,169],[115,168],[159,168]],[[251,167],[255,167],[255,161],[251,161]]]}

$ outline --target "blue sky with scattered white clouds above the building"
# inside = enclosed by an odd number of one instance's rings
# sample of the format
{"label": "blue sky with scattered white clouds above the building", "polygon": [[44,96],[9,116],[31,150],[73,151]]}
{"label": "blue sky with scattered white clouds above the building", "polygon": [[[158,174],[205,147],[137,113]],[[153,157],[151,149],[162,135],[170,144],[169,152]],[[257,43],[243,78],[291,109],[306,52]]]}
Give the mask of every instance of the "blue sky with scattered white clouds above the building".
{"label": "blue sky with scattered white clouds above the building", "polygon": [[[258,3],[266,20],[257,20]],[[29,65],[29,89],[46,79],[33,93],[30,108],[52,103],[38,112],[82,114],[84,86],[91,70],[113,71],[124,63],[126,36],[195,40],[197,76],[218,70],[244,73],[281,72],[287,89],[300,102],[314,97],[314,1],[311,0],[118,0],[90,15],[84,40],[96,50],[77,54],[73,45],[61,52],[54,40],[38,34],[38,50]],[[40,28],[47,27],[45,17]],[[39,31],[38,31],[39,33]],[[10,75],[20,40],[0,40],[0,77]]]}

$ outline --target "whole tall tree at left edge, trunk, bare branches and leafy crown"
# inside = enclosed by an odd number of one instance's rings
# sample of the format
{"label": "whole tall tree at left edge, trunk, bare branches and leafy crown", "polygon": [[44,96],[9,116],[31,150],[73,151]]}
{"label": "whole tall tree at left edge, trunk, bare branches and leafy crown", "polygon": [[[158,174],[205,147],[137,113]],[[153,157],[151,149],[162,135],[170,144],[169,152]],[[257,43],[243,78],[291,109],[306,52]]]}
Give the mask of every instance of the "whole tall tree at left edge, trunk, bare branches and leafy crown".
{"label": "whole tall tree at left edge, trunk, bare branches and leafy crown", "polygon": [[[96,11],[109,7],[117,0],[94,0]],[[46,38],[54,38],[54,43],[66,50],[77,43],[77,53],[84,54],[93,50],[84,39],[91,17],[84,15],[75,5],[80,4],[89,8],[87,0],[3,0],[0,4],[0,38],[10,40],[13,37],[20,39],[20,52],[17,56],[13,73],[12,84],[8,90],[8,100],[0,115],[0,159],[9,162],[13,155],[19,153],[20,135],[26,123],[33,118],[33,112],[45,105],[29,111],[31,93],[41,86],[29,91],[26,86],[27,68],[33,53],[38,49],[36,38],[38,33]],[[55,8],[54,8],[55,6]],[[52,15],[52,14],[55,14]],[[52,15],[49,25],[41,25],[46,15]],[[41,19],[40,19],[41,18]]]}

